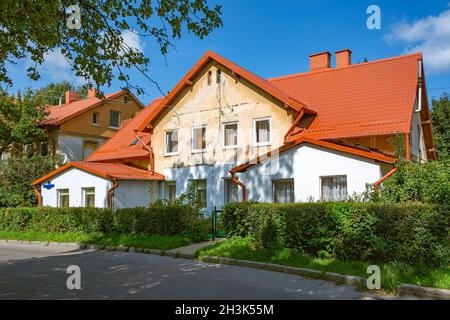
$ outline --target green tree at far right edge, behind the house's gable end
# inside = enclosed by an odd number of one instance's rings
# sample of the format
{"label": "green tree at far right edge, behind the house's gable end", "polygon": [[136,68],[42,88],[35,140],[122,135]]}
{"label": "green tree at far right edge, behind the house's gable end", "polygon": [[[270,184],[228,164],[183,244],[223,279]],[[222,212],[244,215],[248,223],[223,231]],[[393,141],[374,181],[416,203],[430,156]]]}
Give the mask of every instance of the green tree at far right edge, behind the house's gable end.
{"label": "green tree at far right edge, behind the house's gable end", "polygon": [[450,98],[444,93],[439,99],[433,99],[431,120],[433,137],[439,159],[450,156]]}

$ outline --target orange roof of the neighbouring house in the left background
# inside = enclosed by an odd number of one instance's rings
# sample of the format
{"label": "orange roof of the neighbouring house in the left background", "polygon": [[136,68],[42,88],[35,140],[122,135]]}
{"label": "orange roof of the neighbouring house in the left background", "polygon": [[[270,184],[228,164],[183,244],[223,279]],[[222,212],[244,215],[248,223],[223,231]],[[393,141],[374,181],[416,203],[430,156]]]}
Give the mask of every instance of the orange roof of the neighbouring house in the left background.
{"label": "orange roof of the neighbouring house in the left background", "polygon": [[144,106],[142,103],[137,99],[129,90],[124,89],[117,91],[115,93],[111,94],[105,94],[104,99],[99,98],[87,98],[83,100],[74,101],[69,104],[63,104],[61,106],[48,106],[47,112],[48,115],[44,121],[42,121],[41,125],[58,125],[61,124],[69,119],[72,119],[73,117],[86,112],[88,110],[91,110],[92,108],[95,108],[99,105],[101,105],[105,100],[113,100],[115,98],[118,98],[124,93],[130,94],[130,96],[137,102],[137,104],[143,108]]}

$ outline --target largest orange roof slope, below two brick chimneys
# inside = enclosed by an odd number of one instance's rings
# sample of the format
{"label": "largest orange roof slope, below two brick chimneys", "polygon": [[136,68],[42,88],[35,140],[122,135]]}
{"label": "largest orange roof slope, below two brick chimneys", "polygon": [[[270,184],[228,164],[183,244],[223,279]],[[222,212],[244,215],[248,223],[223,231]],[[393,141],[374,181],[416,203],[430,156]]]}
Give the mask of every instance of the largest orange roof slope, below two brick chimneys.
{"label": "largest orange roof slope, below two brick chimneys", "polygon": [[336,139],[407,133],[420,53],[269,79],[318,115],[301,135]]}

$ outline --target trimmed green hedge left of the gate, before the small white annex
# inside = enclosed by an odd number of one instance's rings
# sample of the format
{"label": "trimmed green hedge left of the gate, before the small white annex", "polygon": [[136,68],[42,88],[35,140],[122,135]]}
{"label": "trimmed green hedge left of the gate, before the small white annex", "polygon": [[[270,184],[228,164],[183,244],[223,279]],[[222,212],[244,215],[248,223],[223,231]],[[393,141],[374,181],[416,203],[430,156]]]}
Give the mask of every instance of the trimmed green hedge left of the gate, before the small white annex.
{"label": "trimmed green hedge left of the gate, before the small white annex", "polygon": [[149,208],[5,208],[0,230],[43,232],[103,232],[121,234],[185,234],[193,241],[206,239],[210,222],[198,211],[179,203],[156,203]]}

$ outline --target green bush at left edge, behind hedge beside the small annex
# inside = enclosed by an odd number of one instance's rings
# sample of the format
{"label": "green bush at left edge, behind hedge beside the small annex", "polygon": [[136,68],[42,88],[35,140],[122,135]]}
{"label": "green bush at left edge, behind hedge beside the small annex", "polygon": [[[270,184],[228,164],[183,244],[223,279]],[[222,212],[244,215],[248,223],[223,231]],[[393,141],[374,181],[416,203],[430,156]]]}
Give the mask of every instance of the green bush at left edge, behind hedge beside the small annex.
{"label": "green bush at left edge, behind hedge beside the small annex", "polygon": [[37,203],[31,183],[59,165],[51,156],[10,157],[0,161],[0,207],[23,207]]}

